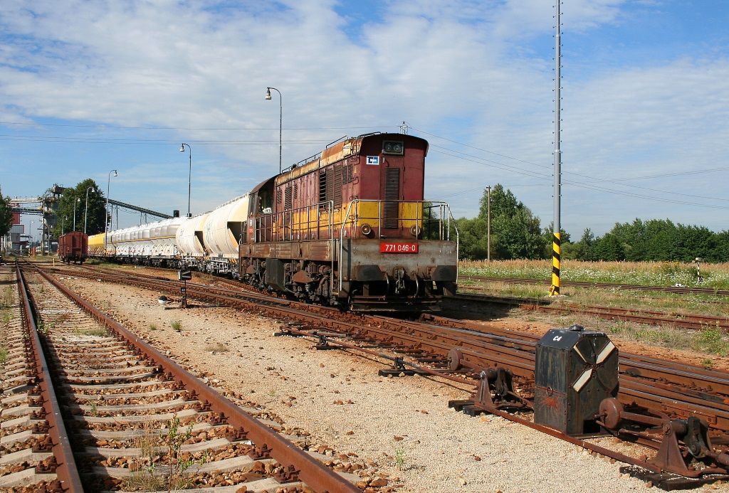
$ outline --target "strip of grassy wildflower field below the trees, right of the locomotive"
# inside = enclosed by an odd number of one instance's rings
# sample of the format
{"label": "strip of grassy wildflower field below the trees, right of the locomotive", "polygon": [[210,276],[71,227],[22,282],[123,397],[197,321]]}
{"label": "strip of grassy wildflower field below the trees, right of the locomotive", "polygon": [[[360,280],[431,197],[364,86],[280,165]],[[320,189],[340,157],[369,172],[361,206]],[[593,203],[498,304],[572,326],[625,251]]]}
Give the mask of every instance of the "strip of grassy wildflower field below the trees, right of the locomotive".
{"label": "strip of grassy wildflower field below the trees, right of the locomotive", "polygon": [[[461,261],[459,275],[484,277],[552,278],[551,260]],[[729,263],[701,264],[698,282],[695,264],[681,262],[586,262],[566,260],[561,280],[580,283],[615,283],[651,286],[683,285],[729,289]]]}

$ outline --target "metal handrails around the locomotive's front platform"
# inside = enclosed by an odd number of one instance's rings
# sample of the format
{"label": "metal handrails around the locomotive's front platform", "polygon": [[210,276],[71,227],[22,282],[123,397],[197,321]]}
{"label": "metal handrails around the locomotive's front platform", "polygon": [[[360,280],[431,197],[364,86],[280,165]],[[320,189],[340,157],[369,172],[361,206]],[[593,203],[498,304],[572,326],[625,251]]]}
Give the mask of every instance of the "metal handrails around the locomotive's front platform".
{"label": "metal handrails around the locomotive's front platform", "polygon": [[[339,291],[342,291],[342,285],[343,285],[342,278],[343,278],[343,272],[344,272],[344,261],[343,261],[344,230],[345,230],[345,226],[347,226],[348,223],[354,224],[356,226],[356,224],[359,222],[359,220],[362,219],[362,217],[359,216],[359,203],[360,202],[377,202],[378,203],[378,208],[377,208],[378,216],[377,216],[377,218],[372,218],[372,219],[377,219],[379,238],[382,237],[382,223],[383,223],[383,221],[382,221],[382,204],[383,204],[383,202],[394,202],[394,203],[397,203],[398,205],[400,205],[400,204],[422,205],[423,213],[421,213],[419,217],[418,217],[418,213],[416,212],[415,218],[405,218],[405,217],[397,218],[398,224],[400,221],[415,221],[416,224],[414,227],[419,228],[419,229],[416,229],[416,232],[417,231],[424,232],[424,229],[422,226],[424,225],[424,222],[425,222],[426,204],[429,204],[429,205],[427,205],[428,209],[438,208],[439,209],[438,217],[436,219],[429,218],[429,222],[437,221],[437,223],[438,223],[438,240],[440,240],[440,241],[443,241],[443,240],[451,241],[451,227],[453,227],[453,230],[456,232],[456,252],[458,252],[461,238],[460,238],[458,228],[456,227],[456,221],[453,218],[453,214],[451,213],[451,208],[448,205],[448,202],[443,202],[441,200],[388,200],[388,201],[384,201],[384,200],[372,200],[372,199],[354,199],[354,200],[351,200],[349,202],[349,204],[347,205],[347,210],[342,218],[342,225],[340,226],[340,229],[339,229],[339,248],[338,248],[338,256],[337,256],[337,261],[339,262],[339,270],[338,270]],[[356,205],[354,208],[354,216],[350,219],[350,213],[351,213],[353,205]],[[417,207],[416,211],[418,211],[418,210],[421,210],[421,209],[419,207]],[[400,211],[400,208],[398,207],[398,216],[399,216],[399,211]],[[445,224],[444,224],[444,222],[445,222]],[[352,230],[350,229],[350,231],[352,231]],[[354,238],[355,234],[356,234],[356,229],[354,229],[354,232],[350,232],[350,238]],[[418,234],[420,234],[420,233],[417,233],[415,235],[416,240],[418,239]],[[334,241],[335,241],[334,238],[332,238],[332,253],[333,253],[334,247],[335,247],[335,245],[333,244]],[[335,259],[335,257],[332,256],[332,272],[334,272],[334,261],[335,261],[334,259]],[[457,278],[458,278],[458,263],[456,262],[456,279]],[[333,291],[333,289],[334,289],[334,279],[333,278],[332,278],[331,288]]]}

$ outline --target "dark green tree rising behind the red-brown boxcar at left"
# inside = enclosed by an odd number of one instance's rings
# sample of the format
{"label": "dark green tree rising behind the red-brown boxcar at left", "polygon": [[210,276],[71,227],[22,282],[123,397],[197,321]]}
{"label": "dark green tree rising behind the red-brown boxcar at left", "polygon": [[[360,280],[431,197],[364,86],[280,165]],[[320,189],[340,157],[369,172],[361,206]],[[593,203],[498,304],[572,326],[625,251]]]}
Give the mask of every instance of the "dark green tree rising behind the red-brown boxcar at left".
{"label": "dark green tree rising behind the red-brown boxcar at left", "polygon": [[[87,189],[88,216],[86,217]],[[88,234],[104,232],[106,198],[96,182],[91,178],[87,178],[77,186],[69,187],[63,192],[63,196],[58,202],[58,221],[56,221],[56,226],[53,228],[53,237],[58,238],[61,232],[68,233],[74,230],[74,201],[76,201],[76,231],[84,230],[84,220],[86,218],[86,232]]]}

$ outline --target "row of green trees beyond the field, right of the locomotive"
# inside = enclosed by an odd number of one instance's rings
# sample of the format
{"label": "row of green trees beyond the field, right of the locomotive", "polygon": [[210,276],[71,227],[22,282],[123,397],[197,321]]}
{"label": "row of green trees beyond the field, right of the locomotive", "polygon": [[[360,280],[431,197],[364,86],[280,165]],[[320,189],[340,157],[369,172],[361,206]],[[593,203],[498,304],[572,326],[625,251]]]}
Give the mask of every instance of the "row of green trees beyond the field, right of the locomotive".
{"label": "row of green trees beyond the field, right of the locomotive", "polygon": [[[461,259],[482,260],[487,253],[488,192],[483,192],[475,218],[459,218]],[[552,256],[550,224],[539,218],[501,184],[491,189],[491,259],[549,259]],[[712,232],[705,226],[675,224],[670,219],[636,218],[616,223],[602,236],[588,228],[577,242],[562,231],[562,259],[585,261],[684,261],[703,258],[729,261],[729,231]]]}

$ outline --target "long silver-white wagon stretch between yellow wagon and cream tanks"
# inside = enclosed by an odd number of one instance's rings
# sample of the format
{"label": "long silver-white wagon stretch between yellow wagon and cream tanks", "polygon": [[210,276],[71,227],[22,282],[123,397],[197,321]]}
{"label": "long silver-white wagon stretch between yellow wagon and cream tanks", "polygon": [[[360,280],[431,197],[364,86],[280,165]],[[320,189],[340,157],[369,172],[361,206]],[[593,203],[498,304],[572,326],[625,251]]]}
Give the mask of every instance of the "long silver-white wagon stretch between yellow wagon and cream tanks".
{"label": "long silver-white wagon stretch between yellow wagon and cream tanks", "polygon": [[109,246],[120,260],[132,264],[165,266],[176,261],[179,256],[175,234],[185,221],[187,218],[171,218],[117,229],[109,233]]}

